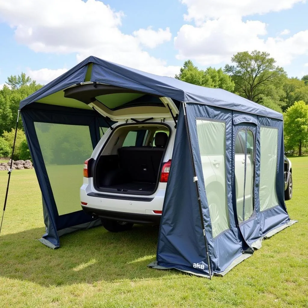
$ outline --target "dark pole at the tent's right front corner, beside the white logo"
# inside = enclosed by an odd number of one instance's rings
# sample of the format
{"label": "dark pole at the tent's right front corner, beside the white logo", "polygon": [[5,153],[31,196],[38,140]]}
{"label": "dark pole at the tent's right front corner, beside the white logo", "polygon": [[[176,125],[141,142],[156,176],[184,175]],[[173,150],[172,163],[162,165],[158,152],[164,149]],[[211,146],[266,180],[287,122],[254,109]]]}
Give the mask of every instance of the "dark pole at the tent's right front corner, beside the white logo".
{"label": "dark pole at the tent's right front corner, beside the white logo", "polygon": [[185,102],[182,102],[182,103],[183,103],[183,109],[184,109],[185,126],[186,126],[187,135],[188,135],[187,137],[188,137],[190,155],[191,155],[191,159],[192,159],[192,162],[193,162],[193,174],[194,174],[193,181],[196,184],[198,204],[199,204],[199,213],[200,213],[200,219],[201,219],[201,226],[202,226],[202,229],[203,229],[203,236],[204,236],[204,241],[205,241],[206,258],[207,258],[207,261],[208,261],[210,279],[212,279],[212,270],[211,270],[211,266],[210,266],[211,261],[210,261],[210,256],[209,256],[208,242],[207,242],[206,236],[205,236],[204,221],[202,219],[201,198],[200,198],[199,189],[198,189],[198,178],[197,178],[197,174],[196,174],[195,161],[194,161],[194,158],[193,158],[193,147],[192,147],[192,143],[191,143],[191,140],[190,140],[190,133],[189,133],[189,127],[188,127],[188,120],[187,120],[187,112],[186,112],[186,103]]}

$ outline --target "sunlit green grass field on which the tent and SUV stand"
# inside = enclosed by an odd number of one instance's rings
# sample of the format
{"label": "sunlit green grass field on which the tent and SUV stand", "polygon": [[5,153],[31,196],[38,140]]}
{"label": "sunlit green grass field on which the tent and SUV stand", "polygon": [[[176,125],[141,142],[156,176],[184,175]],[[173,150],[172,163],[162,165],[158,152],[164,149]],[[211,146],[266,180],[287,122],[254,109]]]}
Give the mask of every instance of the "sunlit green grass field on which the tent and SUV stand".
{"label": "sunlit green grass field on which the tent and SUV stand", "polygon": [[[37,240],[45,228],[34,171],[14,171],[0,237],[0,307],[308,307],[308,157],[291,161],[287,208],[299,222],[211,281],[147,268],[157,228],[99,227],[61,237],[60,249],[45,247]],[[1,206],[6,181],[0,172]]]}

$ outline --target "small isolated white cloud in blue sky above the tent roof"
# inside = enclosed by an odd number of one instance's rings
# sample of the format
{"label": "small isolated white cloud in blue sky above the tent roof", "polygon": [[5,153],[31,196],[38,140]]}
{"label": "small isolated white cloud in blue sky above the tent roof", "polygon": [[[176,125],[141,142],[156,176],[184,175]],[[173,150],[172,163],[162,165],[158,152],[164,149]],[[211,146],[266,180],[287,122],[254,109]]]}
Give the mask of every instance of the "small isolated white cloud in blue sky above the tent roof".
{"label": "small isolated white cloud in blue sky above the tent roof", "polygon": [[172,34],[170,28],[166,30],[158,29],[158,31],[152,30],[152,27],[148,29],[139,29],[133,32],[133,35],[139,40],[141,44],[149,48],[155,48],[157,45],[171,40]]}

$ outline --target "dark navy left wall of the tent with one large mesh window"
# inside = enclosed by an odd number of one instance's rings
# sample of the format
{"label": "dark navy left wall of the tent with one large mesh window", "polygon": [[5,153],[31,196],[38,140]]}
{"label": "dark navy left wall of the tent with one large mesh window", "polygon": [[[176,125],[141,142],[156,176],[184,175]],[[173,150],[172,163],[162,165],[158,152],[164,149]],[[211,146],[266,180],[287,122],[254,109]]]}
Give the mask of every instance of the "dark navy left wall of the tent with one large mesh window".
{"label": "dark navy left wall of the tent with one large mesh window", "polygon": [[[40,136],[40,139],[38,138],[38,127],[42,126],[43,128],[48,127],[50,125],[52,126],[58,126],[61,128],[61,125],[64,125],[65,127],[72,127],[73,129],[70,134],[66,136],[68,139],[67,143],[67,157],[69,160],[74,161],[74,157],[76,156],[76,153],[73,153],[72,151],[76,151],[76,148],[71,149],[69,147],[69,139],[75,138],[75,129],[76,128],[83,128],[83,130],[88,131],[88,142],[86,143],[88,145],[88,149],[86,149],[85,153],[90,153],[91,155],[93,149],[95,148],[96,144],[98,143],[100,139],[100,128],[106,127],[107,124],[103,121],[102,117],[98,115],[95,111],[91,110],[80,110],[75,108],[67,108],[67,107],[59,107],[59,106],[51,106],[46,105],[42,103],[33,103],[30,106],[27,106],[22,109],[21,111],[23,125],[25,129],[25,134],[27,138],[27,142],[29,145],[30,153],[33,159],[33,165],[34,169],[39,181],[39,186],[42,192],[42,199],[43,199],[43,215],[44,215],[44,222],[46,225],[46,233],[43,235],[41,241],[52,248],[59,247],[59,236],[63,235],[68,232],[72,232],[76,229],[83,229],[88,228],[90,226],[93,226],[95,224],[98,224],[98,221],[93,221],[92,217],[87,215],[81,210],[81,207],[79,208],[80,201],[79,201],[79,188],[82,183],[77,183],[76,187],[74,188],[74,194],[76,193],[76,196],[69,196],[69,192],[65,191],[65,179],[63,182],[64,187],[57,187],[53,185],[52,181],[50,180],[50,171],[48,172],[47,165],[51,166],[53,168],[54,162],[48,162],[46,164],[46,150],[42,150],[40,146],[40,142],[42,142],[42,139],[44,138],[44,134],[42,133],[42,136]],[[49,124],[45,125],[44,124]],[[46,128],[45,128],[46,129]],[[59,131],[59,136],[61,134],[61,130]],[[75,133],[74,133],[75,132]],[[59,137],[58,136],[58,137]],[[55,136],[56,138],[57,136]],[[51,140],[47,140],[48,142],[51,142]],[[65,146],[66,144],[64,144]],[[56,150],[56,149],[55,149]],[[81,147],[78,149],[78,151],[84,151],[84,149]],[[44,155],[45,155],[45,161],[44,161]],[[74,156],[75,155],[75,156]],[[81,155],[81,156],[80,156]],[[82,180],[82,164],[84,160],[89,158],[82,157],[83,154],[78,154],[79,165],[72,165],[74,166],[75,170],[72,170],[70,168],[67,169],[67,172],[69,172],[68,179],[71,178],[71,180],[68,180],[67,182],[71,182],[73,180],[74,174],[72,172],[77,172],[78,175],[80,173],[80,180]],[[61,157],[59,157],[61,159]],[[70,164],[70,162],[63,161],[63,164],[60,162],[56,163],[58,164],[58,169],[54,171],[53,178],[57,180],[57,176],[59,173],[59,182],[61,183],[61,177],[63,174],[65,174],[65,168],[67,167],[65,164]],[[63,165],[63,166],[62,166]],[[76,170],[76,168],[78,168]],[[62,170],[61,170],[62,169]],[[79,170],[80,169],[80,170]],[[59,170],[57,172],[57,170]],[[62,173],[61,173],[61,172]],[[64,173],[63,173],[64,172]],[[49,175],[48,175],[49,174]],[[54,182],[55,182],[54,180]],[[67,183],[69,185],[69,183]],[[53,191],[54,189],[54,191]],[[59,189],[63,189],[61,191],[57,191]],[[56,203],[56,195],[63,195],[65,197],[65,194],[67,194],[66,201],[61,200],[57,204]],[[75,201],[78,200],[78,204],[71,205],[75,210],[66,209],[69,205],[70,199],[74,199]],[[74,201],[74,202],[75,202]],[[76,201],[77,202],[77,201]],[[76,203],[75,202],[75,203]],[[60,210],[61,209],[61,210]],[[76,210],[77,209],[77,210]],[[63,214],[64,213],[64,214]]]}

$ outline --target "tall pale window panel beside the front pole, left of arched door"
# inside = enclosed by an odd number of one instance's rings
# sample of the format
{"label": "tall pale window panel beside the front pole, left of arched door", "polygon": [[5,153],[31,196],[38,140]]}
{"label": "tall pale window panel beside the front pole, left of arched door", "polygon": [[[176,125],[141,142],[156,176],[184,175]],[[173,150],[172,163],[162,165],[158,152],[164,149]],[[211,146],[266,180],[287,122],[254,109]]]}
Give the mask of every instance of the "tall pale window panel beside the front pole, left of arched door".
{"label": "tall pale window panel beside the front pole, left of arched door", "polygon": [[197,120],[205,193],[209,204],[213,237],[229,229],[226,197],[225,123]]}

